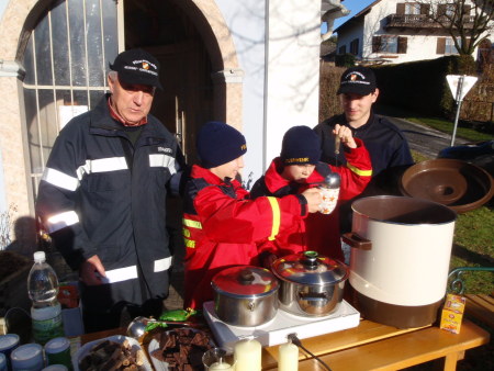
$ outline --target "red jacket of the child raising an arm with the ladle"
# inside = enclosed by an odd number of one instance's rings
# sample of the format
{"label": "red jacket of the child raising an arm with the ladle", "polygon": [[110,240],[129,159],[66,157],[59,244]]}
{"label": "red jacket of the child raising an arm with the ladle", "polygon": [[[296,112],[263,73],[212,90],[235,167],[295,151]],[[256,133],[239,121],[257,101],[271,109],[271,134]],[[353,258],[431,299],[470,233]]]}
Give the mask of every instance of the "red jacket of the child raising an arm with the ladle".
{"label": "red jacket of the child raising an arm with the ladle", "polygon": [[[338,204],[360,194],[372,177],[371,160],[362,140],[355,138],[357,148],[346,148],[347,164],[340,167],[318,162],[306,183],[294,183],[281,177],[283,164],[279,158],[272,160],[266,175],[252,187],[252,199],[263,195],[277,198],[287,194],[300,194],[311,187],[318,187],[330,172],[341,178]],[[262,244],[260,250],[268,250],[279,257],[305,250],[316,250],[333,259],[344,259],[339,236],[338,206],[332,214],[313,213],[301,224],[293,224],[290,231],[279,234],[274,241]]]}

